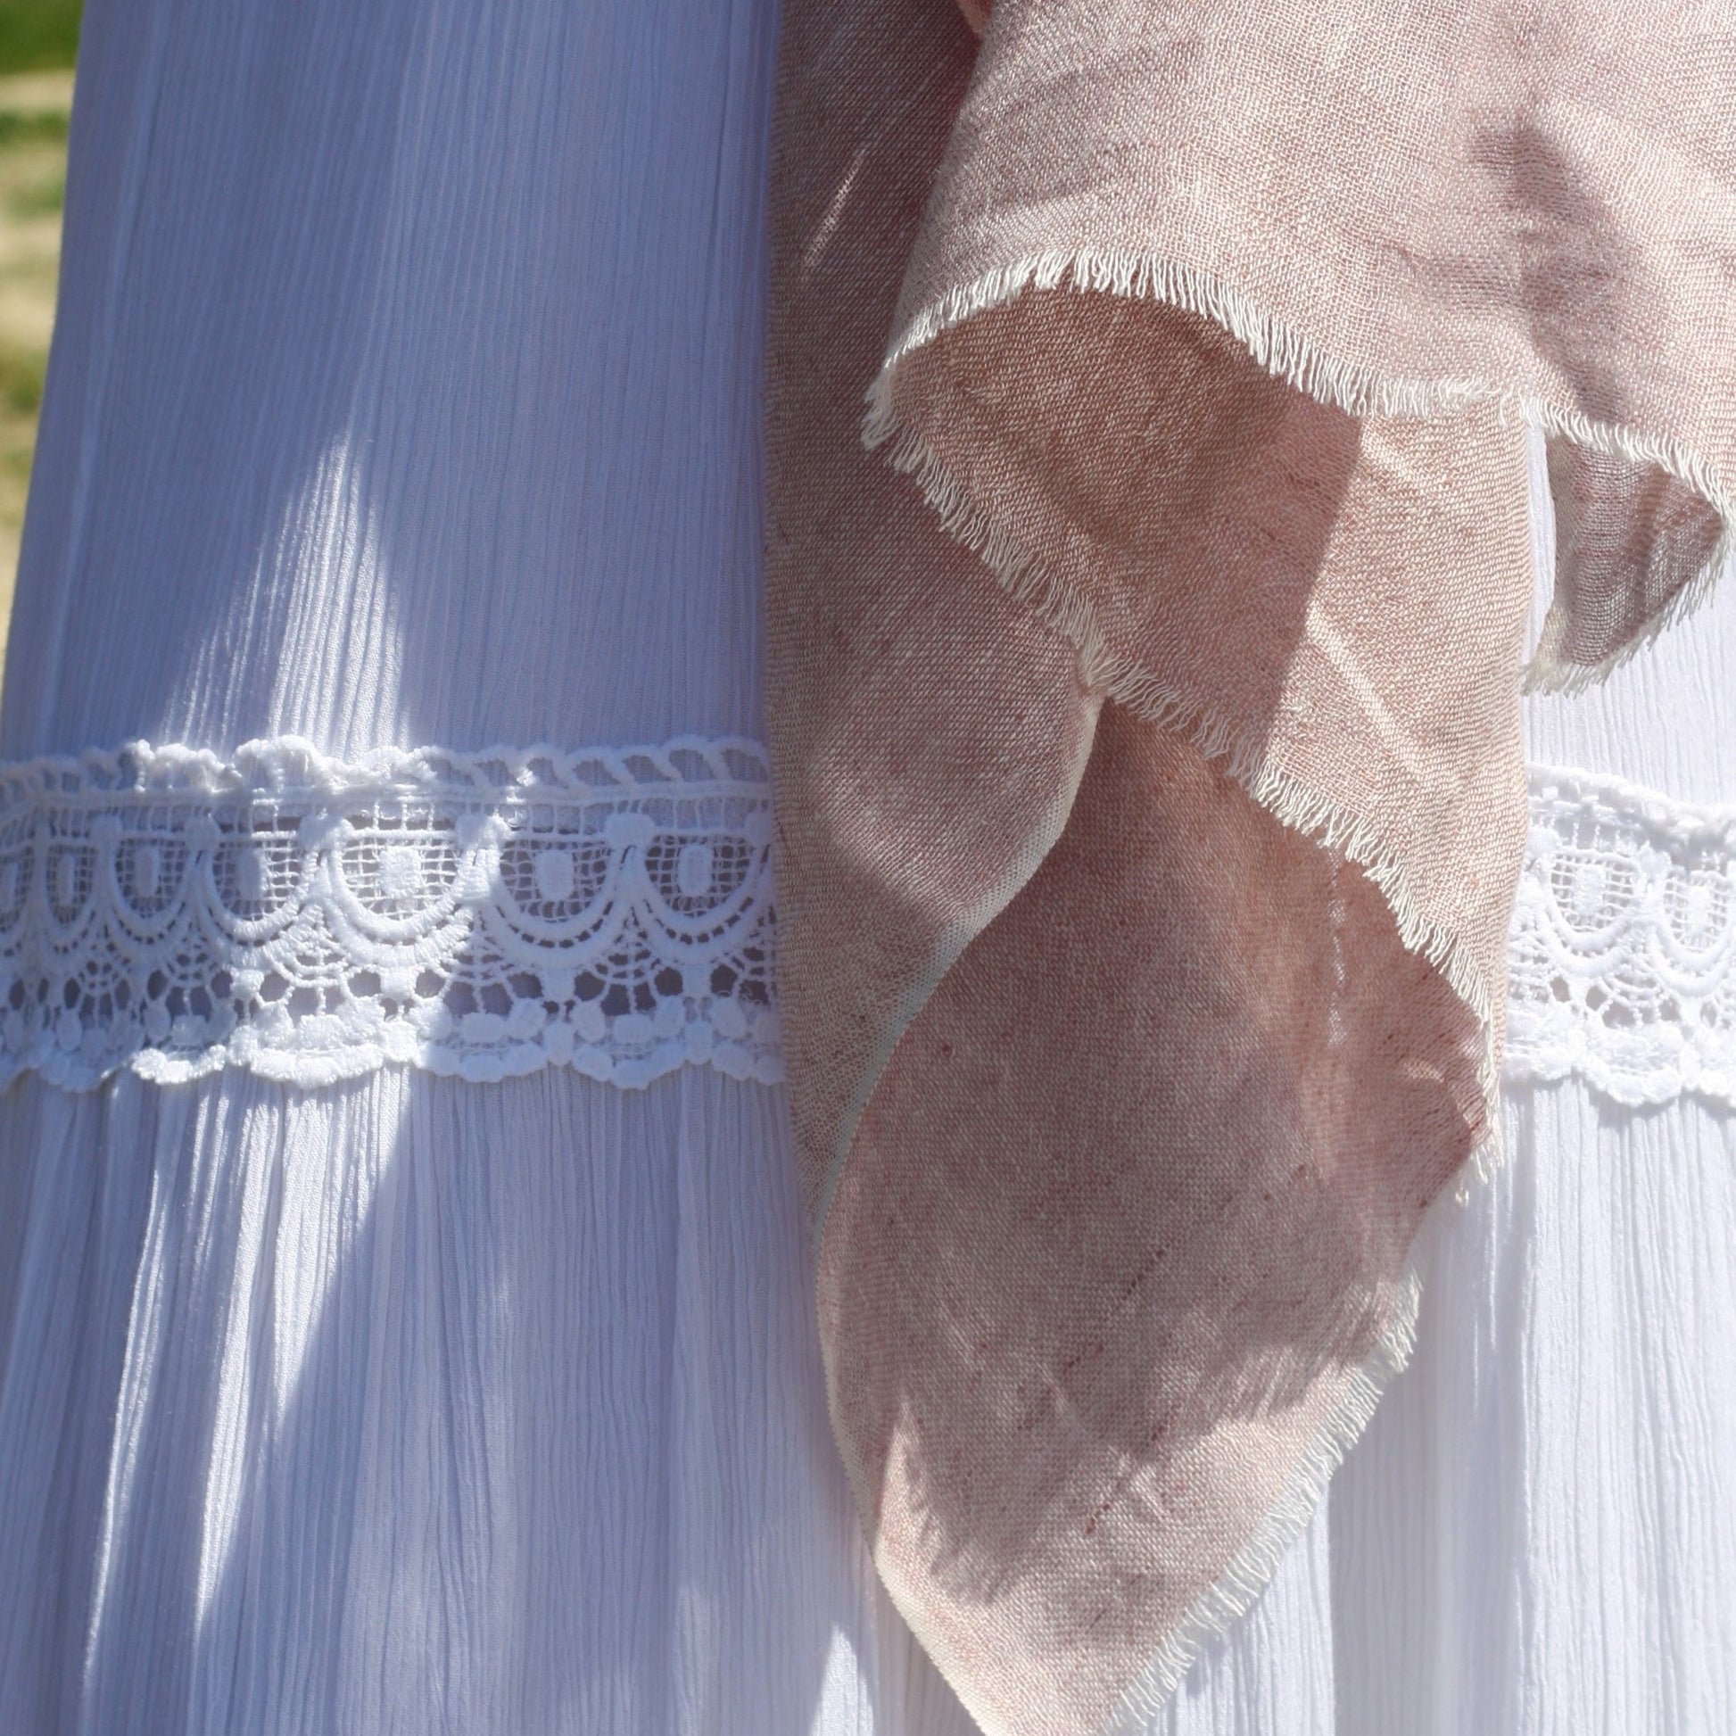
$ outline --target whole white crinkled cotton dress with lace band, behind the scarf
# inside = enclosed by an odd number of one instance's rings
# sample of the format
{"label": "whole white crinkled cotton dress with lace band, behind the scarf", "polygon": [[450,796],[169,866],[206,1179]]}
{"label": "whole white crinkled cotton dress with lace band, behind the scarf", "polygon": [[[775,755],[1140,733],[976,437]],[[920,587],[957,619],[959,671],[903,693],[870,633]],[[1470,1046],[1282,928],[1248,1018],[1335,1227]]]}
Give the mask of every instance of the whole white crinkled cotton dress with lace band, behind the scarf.
{"label": "whole white crinkled cotton dress with lace band, behind the scarf", "polygon": [[[832,1448],[778,1083],[774,0],[83,30],[0,715],[0,1731],[969,1736]],[[1733,677],[1724,599],[1529,703],[1505,1168],[1151,1729],[1736,1726]]]}

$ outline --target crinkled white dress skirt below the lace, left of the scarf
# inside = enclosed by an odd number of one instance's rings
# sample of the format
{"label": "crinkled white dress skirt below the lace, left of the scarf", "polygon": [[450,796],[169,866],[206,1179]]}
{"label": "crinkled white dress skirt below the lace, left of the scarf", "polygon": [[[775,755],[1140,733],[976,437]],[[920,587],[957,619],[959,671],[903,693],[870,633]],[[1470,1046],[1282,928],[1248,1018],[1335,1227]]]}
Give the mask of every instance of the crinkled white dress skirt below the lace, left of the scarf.
{"label": "crinkled white dress skirt below the lace, left of the scarf", "polygon": [[871,1727],[773,1092],[0,1116],[0,1727]]}

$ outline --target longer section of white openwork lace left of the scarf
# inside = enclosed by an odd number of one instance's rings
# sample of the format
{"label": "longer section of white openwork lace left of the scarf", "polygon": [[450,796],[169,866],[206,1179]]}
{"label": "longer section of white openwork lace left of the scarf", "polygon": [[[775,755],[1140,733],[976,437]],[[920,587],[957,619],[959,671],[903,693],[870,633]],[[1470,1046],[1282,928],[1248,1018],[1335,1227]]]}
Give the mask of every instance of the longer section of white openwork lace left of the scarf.
{"label": "longer section of white openwork lace left of the scarf", "polygon": [[781,1078],[750,741],[0,767],[0,1083]]}

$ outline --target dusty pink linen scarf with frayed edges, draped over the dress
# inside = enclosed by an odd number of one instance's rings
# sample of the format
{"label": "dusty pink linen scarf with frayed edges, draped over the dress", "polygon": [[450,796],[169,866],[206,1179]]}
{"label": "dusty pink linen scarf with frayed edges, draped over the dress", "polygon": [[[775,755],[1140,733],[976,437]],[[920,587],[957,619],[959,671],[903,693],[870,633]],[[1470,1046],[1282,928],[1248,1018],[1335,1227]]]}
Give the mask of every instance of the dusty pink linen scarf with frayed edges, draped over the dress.
{"label": "dusty pink linen scarf with frayed edges, draped over the dress", "polygon": [[1733,43],[785,0],[788,1064],[838,1446],[984,1731],[1137,1724],[1406,1356],[1495,1139],[1528,439],[1533,681],[1727,552]]}

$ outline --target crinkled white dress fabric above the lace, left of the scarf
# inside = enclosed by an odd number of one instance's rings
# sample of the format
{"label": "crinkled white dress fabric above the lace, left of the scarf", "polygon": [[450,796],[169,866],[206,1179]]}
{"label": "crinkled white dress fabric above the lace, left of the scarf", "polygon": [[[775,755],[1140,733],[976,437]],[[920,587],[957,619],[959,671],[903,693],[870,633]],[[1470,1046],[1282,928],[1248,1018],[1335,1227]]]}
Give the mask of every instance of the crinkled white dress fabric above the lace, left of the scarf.
{"label": "crinkled white dress fabric above the lace, left of the scarf", "polygon": [[760,729],[771,0],[95,0],[0,755]]}

